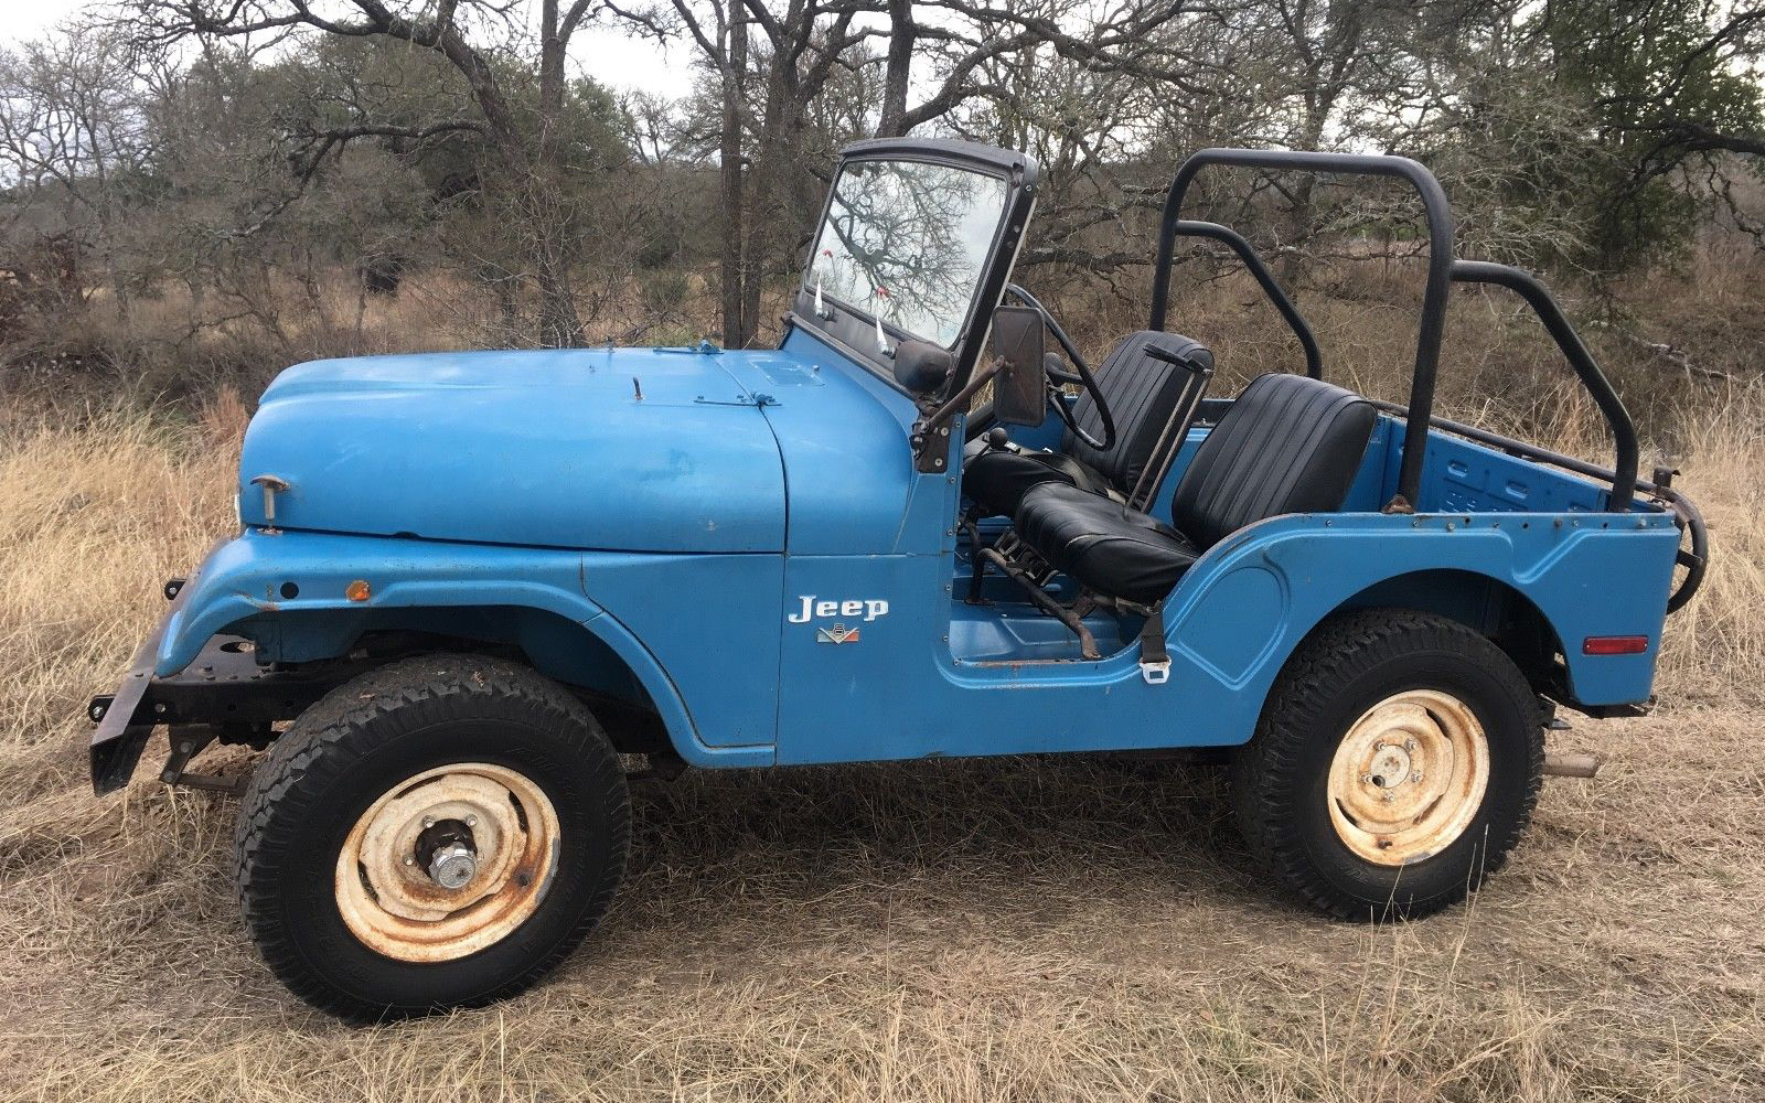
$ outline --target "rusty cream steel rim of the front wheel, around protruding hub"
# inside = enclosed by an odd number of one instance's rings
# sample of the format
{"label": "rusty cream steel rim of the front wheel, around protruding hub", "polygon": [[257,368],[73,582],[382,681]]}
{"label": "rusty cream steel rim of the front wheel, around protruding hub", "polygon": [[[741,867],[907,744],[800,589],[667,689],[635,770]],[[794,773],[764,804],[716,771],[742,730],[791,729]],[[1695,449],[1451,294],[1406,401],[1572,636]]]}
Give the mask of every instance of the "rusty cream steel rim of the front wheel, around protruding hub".
{"label": "rusty cream steel rim of the front wheel, around protruding hub", "polygon": [[[443,888],[418,858],[434,824],[469,824],[475,870]],[[507,766],[455,762],[418,773],[357,819],[337,854],[337,911],[374,953],[452,962],[494,946],[531,916],[558,868],[558,812]]]}

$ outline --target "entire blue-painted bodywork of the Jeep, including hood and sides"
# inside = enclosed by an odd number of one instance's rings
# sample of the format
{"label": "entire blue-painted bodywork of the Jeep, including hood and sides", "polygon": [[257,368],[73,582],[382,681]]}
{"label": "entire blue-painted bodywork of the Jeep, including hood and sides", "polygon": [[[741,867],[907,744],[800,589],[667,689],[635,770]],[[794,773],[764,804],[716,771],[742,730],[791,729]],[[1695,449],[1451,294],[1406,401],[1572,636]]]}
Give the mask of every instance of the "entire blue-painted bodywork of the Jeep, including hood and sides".
{"label": "entire blue-painted bodywork of the Jeep, including hood and sides", "polygon": [[[1382,418],[1345,512],[1264,521],[1184,575],[1165,602],[1170,681],[1151,687],[1137,621],[1093,614],[1105,657],[1082,662],[1004,579],[992,604],[962,604],[960,487],[913,469],[914,415],[807,334],[762,353],[289,369],[242,468],[291,484],[277,529],[242,487],[245,531],[191,581],[157,672],[215,634],[298,662],[415,627],[510,642],[554,678],[634,697],[701,766],[1228,747],[1292,649],[1361,595],[1472,618],[1507,588],[1564,641],[1576,699],[1652,690],[1679,531],[1647,505],[1596,512],[1603,491],[1581,478],[1435,434],[1424,512],[1382,515],[1401,438]],[[344,597],[357,579],[367,602]],[[874,602],[886,614],[847,612]],[[837,625],[856,637],[817,642]],[[1587,635],[1629,634],[1649,635],[1645,655],[1580,653]]]}

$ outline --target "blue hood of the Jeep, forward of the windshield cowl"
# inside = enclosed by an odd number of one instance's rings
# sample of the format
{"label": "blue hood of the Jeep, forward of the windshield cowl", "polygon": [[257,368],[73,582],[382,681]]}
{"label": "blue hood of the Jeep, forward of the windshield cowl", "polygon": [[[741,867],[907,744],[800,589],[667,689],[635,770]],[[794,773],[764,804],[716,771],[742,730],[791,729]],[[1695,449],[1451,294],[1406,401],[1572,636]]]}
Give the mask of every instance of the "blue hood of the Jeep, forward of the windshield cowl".
{"label": "blue hood of the Jeep, forward of the windshield cowl", "polygon": [[[247,524],[657,552],[784,551],[784,468],[734,360],[560,349],[319,360],[263,394]],[[743,372],[750,374],[750,372]],[[254,480],[259,480],[254,484]],[[274,521],[263,482],[274,494]]]}

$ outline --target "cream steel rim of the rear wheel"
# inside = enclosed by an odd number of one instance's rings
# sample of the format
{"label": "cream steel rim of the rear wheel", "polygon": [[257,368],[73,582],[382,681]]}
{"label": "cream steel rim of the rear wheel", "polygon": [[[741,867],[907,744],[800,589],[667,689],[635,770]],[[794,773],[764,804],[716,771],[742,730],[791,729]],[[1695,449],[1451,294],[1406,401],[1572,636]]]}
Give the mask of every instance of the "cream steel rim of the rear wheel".
{"label": "cream steel rim of the rear wheel", "polygon": [[1405,690],[1356,720],[1329,768],[1329,817],[1357,858],[1401,867],[1453,845],[1490,787],[1477,715],[1440,690]]}

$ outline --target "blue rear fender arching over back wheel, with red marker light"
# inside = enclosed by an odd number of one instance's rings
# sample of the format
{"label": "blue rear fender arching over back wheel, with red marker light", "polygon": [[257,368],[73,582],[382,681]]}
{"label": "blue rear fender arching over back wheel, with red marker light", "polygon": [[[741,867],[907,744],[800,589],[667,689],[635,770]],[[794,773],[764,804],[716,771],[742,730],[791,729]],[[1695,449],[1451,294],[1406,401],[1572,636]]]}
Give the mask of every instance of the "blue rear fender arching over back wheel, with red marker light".
{"label": "blue rear fender arching over back wheel, with red marker light", "polygon": [[[1209,551],[1172,593],[1170,649],[1236,690],[1267,690],[1333,612],[1407,604],[1486,628],[1490,586],[1518,595],[1562,648],[1585,704],[1645,701],[1679,547],[1656,514],[1287,515]],[[1588,635],[1647,635],[1641,655],[1587,657]],[[1555,642],[1553,641],[1553,642]]]}

